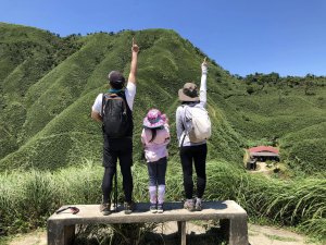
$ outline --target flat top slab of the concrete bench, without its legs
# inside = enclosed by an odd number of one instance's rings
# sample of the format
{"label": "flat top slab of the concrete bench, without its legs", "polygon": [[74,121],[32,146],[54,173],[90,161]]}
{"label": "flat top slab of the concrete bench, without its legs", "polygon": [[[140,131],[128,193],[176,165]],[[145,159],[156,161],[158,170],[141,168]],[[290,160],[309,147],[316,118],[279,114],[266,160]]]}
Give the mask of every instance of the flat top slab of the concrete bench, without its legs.
{"label": "flat top slab of the concrete bench, without its legs", "polygon": [[73,206],[79,208],[77,215],[72,215],[67,210],[58,215],[52,215],[49,218],[49,221],[61,221],[64,225],[68,225],[91,223],[161,223],[167,221],[216,220],[247,217],[244,209],[234,200],[203,201],[203,210],[199,212],[189,212],[183,208],[183,203],[166,203],[164,204],[163,213],[151,213],[149,211],[148,203],[139,203],[136,204],[135,211],[131,215],[125,215],[123,207],[118,207],[117,212],[113,212],[110,216],[103,216],[100,212],[99,205]]}

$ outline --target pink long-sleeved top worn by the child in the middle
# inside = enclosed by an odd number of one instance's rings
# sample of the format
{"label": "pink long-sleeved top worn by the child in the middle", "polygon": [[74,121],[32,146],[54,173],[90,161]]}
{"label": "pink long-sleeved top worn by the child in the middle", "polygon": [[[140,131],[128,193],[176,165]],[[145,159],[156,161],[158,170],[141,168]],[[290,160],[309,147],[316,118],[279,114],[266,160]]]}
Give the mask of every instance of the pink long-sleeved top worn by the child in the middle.
{"label": "pink long-sleeved top worn by the child in the middle", "polygon": [[164,128],[156,131],[156,137],[153,142],[150,142],[152,138],[152,132],[149,128],[143,128],[141,132],[141,143],[145,148],[145,157],[148,162],[158,161],[161,158],[167,157],[168,152],[166,149],[167,144],[170,143],[170,128],[165,124]]}

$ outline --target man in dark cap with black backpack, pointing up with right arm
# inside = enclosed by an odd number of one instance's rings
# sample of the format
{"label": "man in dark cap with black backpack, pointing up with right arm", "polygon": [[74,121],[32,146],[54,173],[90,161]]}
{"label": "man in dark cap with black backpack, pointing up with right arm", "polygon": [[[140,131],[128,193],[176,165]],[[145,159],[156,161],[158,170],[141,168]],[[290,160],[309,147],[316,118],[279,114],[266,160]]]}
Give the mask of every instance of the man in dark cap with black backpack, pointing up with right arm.
{"label": "man in dark cap with black backpack, pointing up with right arm", "polygon": [[[120,72],[110,72],[110,90],[108,94],[98,95],[91,108],[91,118],[103,123],[104,176],[102,181],[103,200],[100,206],[103,216],[111,213],[110,196],[112,180],[116,173],[117,159],[123,175],[125,213],[129,215],[133,212],[133,106],[136,95],[138,51],[139,47],[133,38],[130,73],[125,89],[125,77]],[[115,117],[116,113],[121,112],[118,111],[120,109],[123,110],[121,117]]]}

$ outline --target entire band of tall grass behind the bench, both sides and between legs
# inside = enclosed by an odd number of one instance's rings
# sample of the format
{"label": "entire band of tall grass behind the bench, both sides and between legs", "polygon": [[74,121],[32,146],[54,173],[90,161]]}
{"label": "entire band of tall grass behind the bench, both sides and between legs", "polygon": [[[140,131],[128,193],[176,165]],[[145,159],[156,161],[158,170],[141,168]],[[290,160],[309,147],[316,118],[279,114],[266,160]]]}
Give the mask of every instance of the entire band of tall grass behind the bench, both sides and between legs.
{"label": "entire band of tall grass behind the bench, both sides and between legs", "polygon": [[[205,199],[234,199],[252,218],[267,218],[279,224],[325,240],[326,181],[305,179],[279,181],[248,174],[227,162],[210,161],[206,166]],[[27,231],[45,225],[47,218],[62,205],[99,204],[101,201],[100,163],[88,161],[53,173],[30,170],[0,175],[0,230],[2,234]],[[134,198],[148,201],[146,164],[135,163]],[[181,200],[181,167],[168,162],[166,200]],[[118,174],[120,199],[123,200]]]}

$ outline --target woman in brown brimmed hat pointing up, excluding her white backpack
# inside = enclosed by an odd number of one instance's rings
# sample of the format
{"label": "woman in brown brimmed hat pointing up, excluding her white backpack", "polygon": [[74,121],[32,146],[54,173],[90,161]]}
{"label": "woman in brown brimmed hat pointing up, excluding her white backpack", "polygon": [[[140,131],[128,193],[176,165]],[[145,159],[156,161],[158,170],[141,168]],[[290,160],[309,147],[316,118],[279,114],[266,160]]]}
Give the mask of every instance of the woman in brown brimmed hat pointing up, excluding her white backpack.
{"label": "woman in brown brimmed hat pointing up, excluding her white backpack", "polygon": [[[201,211],[202,209],[202,196],[204,194],[206,185],[206,154],[208,146],[206,140],[193,143],[190,140],[187,128],[191,127],[191,121],[189,113],[191,114],[191,108],[206,106],[206,75],[208,63],[206,58],[201,64],[201,83],[198,95],[196,84],[186,83],[184,88],[179,89],[178,97],[181,101],[181,106],[176,111],[176,130],[177,138],[179,143],[179,154],[184,173],[184,187],[186,193],[186,201],[184,208],[189,211]],[[193,181],[192,181],[192,163],[197,173],[197,195],[193,199]]]}

